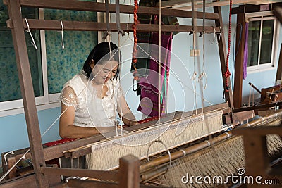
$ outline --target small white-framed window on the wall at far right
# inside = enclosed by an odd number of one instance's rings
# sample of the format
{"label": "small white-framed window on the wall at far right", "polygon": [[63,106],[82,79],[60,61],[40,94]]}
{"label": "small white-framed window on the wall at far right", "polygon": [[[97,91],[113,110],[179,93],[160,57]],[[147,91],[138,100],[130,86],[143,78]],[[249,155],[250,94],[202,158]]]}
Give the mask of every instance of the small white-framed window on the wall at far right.
{"label": "small white-framed window on the wall at far right", "polygon": [[247,70],[267,70],[275,65],[277,20],[271,12],[248,13]]}

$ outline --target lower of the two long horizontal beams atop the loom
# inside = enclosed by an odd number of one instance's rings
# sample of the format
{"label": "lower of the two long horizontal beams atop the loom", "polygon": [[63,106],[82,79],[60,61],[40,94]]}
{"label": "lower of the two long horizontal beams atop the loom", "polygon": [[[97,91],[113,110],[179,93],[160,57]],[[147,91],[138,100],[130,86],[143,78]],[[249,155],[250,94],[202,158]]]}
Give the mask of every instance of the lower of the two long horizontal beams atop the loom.
{"label": "lower of the two long horizontal beams atop the loom", "polygon": [[[27,19],[30,30],[61,30],[61,21],[60,20],[36,20],[36,19]],[[106,23],[96,23],[96,22],[80,22],[80,21],[62,21],[63,30],[76,30],[76,31],[106,31]],[[23,19],[23,25],[25,30],[27,30],[27,25]],[[132,23],[121,23],[121,29],[124,32],[132,32]],[[7,26],[13,28],[12,20],[7,21]],[[116,23],[110,23],[111,31],[116,32],[118,28]],[[204,27],[206,32],[220,32],[219,27],[207,26]],[[157,32],[159,31],[159,25],[154,24],[138,24],[137,31],[141,32]],[[192,26],[189,25],[161,25],[161,31],[163,32],[190,32],[192,31]],[[195,32],[202,32],[203,27],[195,27]]]}

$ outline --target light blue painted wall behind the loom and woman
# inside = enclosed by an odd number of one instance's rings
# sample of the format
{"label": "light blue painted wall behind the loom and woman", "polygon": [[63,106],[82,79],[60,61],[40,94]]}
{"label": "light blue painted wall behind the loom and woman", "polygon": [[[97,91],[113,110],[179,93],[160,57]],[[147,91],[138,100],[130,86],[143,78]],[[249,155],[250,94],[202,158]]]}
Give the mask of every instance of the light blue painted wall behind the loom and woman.
{"label": "light blue painted wall behind the loom and woman", "polygon": [[[228,7],[223,7],[223,15],[228,14]],[[227,46],[227,33],[228,33],[228,16],[223,16],[224,27]],[[236,16],[232,16],[232,42],[234,36],[234,30],[236,26]],[[125,17],[125,21],[128,21],[128,16]],[[191,25],[189,19],[180,19],[180,24]],[[200,24],[200,23],[199,23]],[[207,23],[209,25],[211,23]],[[277,38],[278,41],[278,51],[280,51],[280,44],[282,42],[282,32],[281,25],[279,25],[280,33]],[[213,40],[214,35],[205,35],[205,72],[207,74],[207,89],[204,89],[204,98],[212,104],[219,104],[224,101],[223,94],[223,82],[219,61],[219,51],[216,44],[211,44],[209,41]],[[132,38],[132,37],[131,37]],[[123,38],[123,41],[126,40]],[[113,41],[118,44],[118,38],[113,35]],[[195,108],[194,103],[194,92],[192,88],[194,82],[190,80],[192,74],[194,73],[194,62],[196,64],[195,70],[200,73],[198,67],[202,67],[202,38],[197,37],[197,49],[201,49],[201,56],[195,58],[190,57],[190,49],[192,49],[192,35],[188,33],[180,33],[173,37],[173,56],[171,57],[171,75],[170,75],[170,100],[168,101],[168,111],[189,111]],[[121,42],[123,43],[123,42]],[[132,44],[132,41],[128,39],[124,44]],[[132,49],[123,51],[123,59],[131,58]],[[233,44],[231,45],[231,65],[230,69],[233,70]],[[278,56],[276,59],[278,62]],[[200,66],[199,66],[200,65]],[[123,86],[125,87],[126,98],[130,108],[133,110],[138,119],[141,118],[141,114],[137,112],[137,105],[139,104],[139,97],[136,96],[131,89],[132,86],[132,74],[129,73],[130,62],[128,65],[123,66]],[[174,73],[174,74],[173,74]],[[262,87],[269,87],[274,85],[276,75],[276,69],[267,70],[261,73],[250,73],[247,75],[247,79],[243,81],[243,100],[246,102],[249,94],[248,82],[252,82],[259,89]],[[179,81],[180,80],[180,81]],[[187,87],[183,87],[180,83],[184,83]],[[200,84],[196,82],[197,93],[200,94]],[[209,106],[209,103],[204,102],[204,106]],[[201,99],[197,96],[197,108],[201,107]],[[51,125],[51,123],[56,120],[60,114],[60,108],[51,108],[49,110],[38,111],[39,124],[42,132]],[[11,151],[14,149],[22,149],[27,146],[27,130],[25,125],[25,117],[23,114],[11,115],[7,117],[0,118],[1,132],[0,132],[0,153],[4,151]],[[43,142],[50,142],[59,139],[57,122],[54,127],[51,128],[49,133],[44,136]]]}

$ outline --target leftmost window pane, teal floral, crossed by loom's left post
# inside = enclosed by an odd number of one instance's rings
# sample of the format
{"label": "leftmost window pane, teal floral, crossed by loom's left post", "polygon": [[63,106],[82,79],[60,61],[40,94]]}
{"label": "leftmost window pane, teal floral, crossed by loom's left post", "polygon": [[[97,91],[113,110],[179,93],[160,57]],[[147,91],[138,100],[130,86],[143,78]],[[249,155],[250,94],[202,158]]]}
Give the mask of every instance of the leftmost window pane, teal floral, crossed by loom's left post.
{"label": "leftmost window pane, teal floral, crossed by loom's left post", "polygon": [[[22,8],[23,18],[38,18],[38,10],[35,8]],[[18,79],[18,70],[16,65],[16,56],[13,49],[13,39],[11,30],[6,27],[8,20],[7,6],[0,1],[0,102],[1,110],[16,108],[21,99],[20,82]],[[30,35],[25,33],[27,41],[28,58],[30,61],[30,70],[32,73],[32,82],[37,103],[42,101],[42,63],[41,49],[39,40],[39,31],[32,31],[38,50],[31,44]],[[4,103],[6,101],[6,103]]]}

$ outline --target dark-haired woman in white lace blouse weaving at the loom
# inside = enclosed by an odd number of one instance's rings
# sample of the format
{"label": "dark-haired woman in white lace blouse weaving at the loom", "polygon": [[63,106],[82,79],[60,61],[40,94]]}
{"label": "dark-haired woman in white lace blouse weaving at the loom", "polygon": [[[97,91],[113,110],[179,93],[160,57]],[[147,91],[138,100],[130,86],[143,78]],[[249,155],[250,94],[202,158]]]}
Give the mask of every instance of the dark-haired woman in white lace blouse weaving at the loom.
{"label": "dark-haired woman in white lace blouse weaving at the loom", "polygon": [[120,68],[121,54],[116,44],[102,42],[92,49],[82,71],[66,82],[61,91],[62,138],[114,131],[118,126],[116,111],[125,125],[137,124],[118,82]]}

